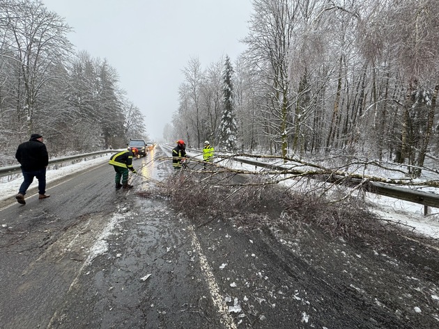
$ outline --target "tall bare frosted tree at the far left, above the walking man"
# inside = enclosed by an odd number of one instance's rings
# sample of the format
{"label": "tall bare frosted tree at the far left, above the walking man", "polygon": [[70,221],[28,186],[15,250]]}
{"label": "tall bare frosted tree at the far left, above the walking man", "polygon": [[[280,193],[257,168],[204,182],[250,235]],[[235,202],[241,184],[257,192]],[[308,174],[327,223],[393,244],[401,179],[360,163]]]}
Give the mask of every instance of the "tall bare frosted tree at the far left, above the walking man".
{"label": "tall bare frosted tree at the far left, above the walking man", "polygon": [[10,92],[15,93],[17,117],[26,125],[26,135],[42,131],[47,115],[42,113],[44,108],[38,108],[38,99],[47,83],[62,78],[56,69],[71,54],[72,45],[66,37],[71,28],[38,0],[1,3],[0,21],[1,48],[13,51],[2,56],[0,64],[15,62],[15,70],[6,72],[6,77],[14,79],[15,88]]}

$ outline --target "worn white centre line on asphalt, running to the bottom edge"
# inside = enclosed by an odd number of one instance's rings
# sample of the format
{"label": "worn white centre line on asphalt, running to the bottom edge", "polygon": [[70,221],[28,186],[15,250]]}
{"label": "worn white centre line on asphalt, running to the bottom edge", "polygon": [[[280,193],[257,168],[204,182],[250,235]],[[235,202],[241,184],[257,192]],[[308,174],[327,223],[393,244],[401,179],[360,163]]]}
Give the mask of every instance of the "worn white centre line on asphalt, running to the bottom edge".
{"label": "worn white centre line on asphalt, running to the bottom edge", "polygon": [[190,225],[189,230],[190,233],[192,234],[192,246],[195,247],[200,257],[201,271],[206,276],[206,282],[208,284],[210,291],[210,298],[212,298],[213,304],[217,307],[219,314],[222,316],[222,319],[224,320],[221,322],[226,326],[226,328],[236,329],[238,327],[236,326],[235,322],[233,322],[233,318],[228,312],[228,307],[224,303],[221,294],[219,294],[219,286],[215,280],[215,277],[213,276],[212,268],[210,267],[206,256],[203,254],[203,251],[201,250],[201,245],[197,239],[197,235],[195,234],[194,227]]}

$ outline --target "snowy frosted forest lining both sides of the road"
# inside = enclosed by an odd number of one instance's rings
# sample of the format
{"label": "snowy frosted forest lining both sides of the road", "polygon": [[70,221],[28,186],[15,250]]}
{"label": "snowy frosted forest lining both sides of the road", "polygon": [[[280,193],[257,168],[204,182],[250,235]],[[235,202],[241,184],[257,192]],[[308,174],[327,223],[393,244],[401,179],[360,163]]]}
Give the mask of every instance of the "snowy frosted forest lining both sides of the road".
{"label": "snowy frosted forest lining both sides of the road", "polygon": [[[182,67],[164,139],[201,148],[403,163],[439,152],[433,0],[252,0],[246,50]],[[226,24],[226,21],[224,21]],[[0,0],[0,152],[38,131],[52,154],[122,147],[144,118],[107,61],[75,52],[39,0]],[[222,56],[222,57],[221,57]],[[11,149],[14,149],[11,151]]]}

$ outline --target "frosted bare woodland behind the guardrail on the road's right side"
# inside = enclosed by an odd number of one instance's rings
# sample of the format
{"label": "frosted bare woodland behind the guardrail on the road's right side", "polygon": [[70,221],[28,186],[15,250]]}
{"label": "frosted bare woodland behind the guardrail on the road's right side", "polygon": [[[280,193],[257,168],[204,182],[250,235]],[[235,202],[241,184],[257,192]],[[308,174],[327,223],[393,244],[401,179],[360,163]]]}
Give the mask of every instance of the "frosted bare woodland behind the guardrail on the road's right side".
{"label": "frosted bare woodland behind the guardrail on the road's right side", "polygon": [[227,56],[206,69],[188,61],[167,136],[230,149],[227,112],[236,150],[362,156],[419,176],[439,142],[436,1],[252,3],[247,50],[231,67]]}

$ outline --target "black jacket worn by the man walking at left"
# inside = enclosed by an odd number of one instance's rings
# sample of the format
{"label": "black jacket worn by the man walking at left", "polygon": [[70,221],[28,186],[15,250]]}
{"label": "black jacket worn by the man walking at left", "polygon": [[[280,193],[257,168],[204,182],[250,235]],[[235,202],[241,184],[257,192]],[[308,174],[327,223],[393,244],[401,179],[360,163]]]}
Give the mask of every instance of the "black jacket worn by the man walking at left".
{"label": "black jacket worn by the man walking at left", "polygon": [[49,154],[46,145],[31,138],[29,141],[18,145],[15,159],[22,165],[24,171],[41,170],[49,164]]}

